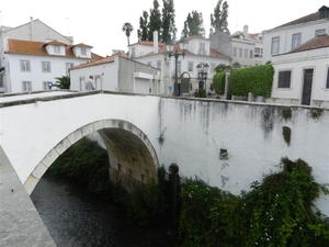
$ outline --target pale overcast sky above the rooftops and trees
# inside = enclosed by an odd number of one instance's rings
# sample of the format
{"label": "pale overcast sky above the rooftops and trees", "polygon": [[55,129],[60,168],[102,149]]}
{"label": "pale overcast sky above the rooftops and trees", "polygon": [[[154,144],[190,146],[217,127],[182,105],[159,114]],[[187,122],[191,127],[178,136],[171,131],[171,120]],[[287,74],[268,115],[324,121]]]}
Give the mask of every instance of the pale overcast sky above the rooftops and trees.
{"label": "pale overcast sky above the rooftops and trees", "polygon": [[[137,42],[137,30],[143,11],[149,12],[154,0],[29,0],[1,1],[0,25],[19,26],[30,22],[32,16],[64,35],[71,35],[75,44],[93,46],[92,52],[101,56],[112,55],[112,49],[127,52],[127,37],[122,32],[125,22],[132,23],[134,31],[131,44]],[[162,0],[158,0],[160,10]],[[206,37],[209,31],[209,15],[214,13],[218,0],[174,0],[175,25],[181,35],[188,13],[201,12]],[[260,33],[277,25],[317,12],[328,0],[228,0],[228,27],[231,33],[249,26],[249,33]]]}

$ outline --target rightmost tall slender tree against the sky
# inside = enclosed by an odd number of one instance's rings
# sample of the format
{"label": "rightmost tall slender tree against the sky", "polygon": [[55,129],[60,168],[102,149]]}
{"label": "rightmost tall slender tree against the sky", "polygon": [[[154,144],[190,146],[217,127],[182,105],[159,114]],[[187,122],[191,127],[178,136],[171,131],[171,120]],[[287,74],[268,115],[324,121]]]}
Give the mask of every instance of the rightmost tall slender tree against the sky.
{"label": "rightmost tall slender tree against the sky", "polygon": [[[225,33],[229,34],[228,30],[228,4],[225,1],[222,5],[223,0],[218,0],[216,8],[214,8],[214,13],[211,14],[211,30],[209,37],[214,35],[214,33]],[[222,10],[220,10],[222,7]]]}

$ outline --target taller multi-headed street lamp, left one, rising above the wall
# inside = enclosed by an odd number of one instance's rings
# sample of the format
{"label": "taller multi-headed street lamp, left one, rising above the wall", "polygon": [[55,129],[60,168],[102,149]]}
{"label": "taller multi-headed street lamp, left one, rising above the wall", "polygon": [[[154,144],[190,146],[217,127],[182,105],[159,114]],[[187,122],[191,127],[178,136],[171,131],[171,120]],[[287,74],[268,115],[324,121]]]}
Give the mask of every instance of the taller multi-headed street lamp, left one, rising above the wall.
{"label": "taller multi-headed street lamp, left one, rising above the wall", "polygon": [[179,46],[182,47],[182,53],[178,52],[178,46],[174,47],[174,44],[172,41],[167,42],[167,50],[168,56],[174,57],[174,94],[178,97],[181,94],[180,85],[178,83],[178,58],[182,55],[183,58],[185,56],[185,49],[188,49],[189,42],[184,38],[181,38],[179,41]]}

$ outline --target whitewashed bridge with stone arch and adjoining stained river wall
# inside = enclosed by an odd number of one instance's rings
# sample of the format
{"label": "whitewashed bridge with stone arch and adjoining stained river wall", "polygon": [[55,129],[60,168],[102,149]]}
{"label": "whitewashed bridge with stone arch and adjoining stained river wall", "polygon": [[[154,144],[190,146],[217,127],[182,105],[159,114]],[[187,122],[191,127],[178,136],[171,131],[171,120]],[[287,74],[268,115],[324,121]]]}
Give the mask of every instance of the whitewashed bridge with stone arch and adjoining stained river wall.
{"label": "whitewashed bridge with stone arch and adjoining stained river wall", "polygon": [[[239,194],[263,175],[279,171],[282,157],[304,159],[317,182],[329,183],[329,111],[288,105],[292,117],[286,120],[286,106],[107,91],[3,96],[1,214],[26,218],[27,204],[33,211],[27,195],[47,168],[95,132],[109,153],[111,179],[127,188],[156,179],[159,166],[168,169],[175,162],[180,176]],[[290,144],[282,134],[284,126],[292,131]],[[328,200],[321,194],[317,201],[327,215]],[[7,234],[3,237],[10,240]]]}

